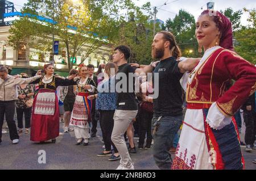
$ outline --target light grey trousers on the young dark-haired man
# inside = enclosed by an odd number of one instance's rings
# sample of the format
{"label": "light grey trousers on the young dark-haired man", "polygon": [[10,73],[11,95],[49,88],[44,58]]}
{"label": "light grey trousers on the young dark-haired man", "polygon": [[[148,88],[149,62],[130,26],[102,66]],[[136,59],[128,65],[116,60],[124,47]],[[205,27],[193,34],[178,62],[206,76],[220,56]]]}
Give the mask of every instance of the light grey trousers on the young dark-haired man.
{"label": "light grey trousers on the young dark-haired man", "polygon": [[123,134],[125,134],[137,112],[138,110],[115,110],[114,113],[114,128],[111,140],[121,157],[120,165],[127,168],[132,167],[133,162],[131,161]]}

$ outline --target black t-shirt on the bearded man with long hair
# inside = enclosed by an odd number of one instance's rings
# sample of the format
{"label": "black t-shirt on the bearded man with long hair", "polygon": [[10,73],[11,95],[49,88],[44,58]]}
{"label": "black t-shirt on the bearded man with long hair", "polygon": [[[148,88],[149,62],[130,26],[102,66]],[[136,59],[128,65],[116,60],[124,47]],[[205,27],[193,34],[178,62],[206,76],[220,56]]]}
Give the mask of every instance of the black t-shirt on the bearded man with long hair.
{"label": "black t-shirt on the bearded man with long hair", "polygon": [[[178,63],[175,57],[166,58],[159,62],[154,73],[159,73],[159,95],[154,99],[154,116],[181,116],[182,88]],[[158,81],[158,80],[156,80]],[[155,75],[153,74],[153,85],[155,86]]]}

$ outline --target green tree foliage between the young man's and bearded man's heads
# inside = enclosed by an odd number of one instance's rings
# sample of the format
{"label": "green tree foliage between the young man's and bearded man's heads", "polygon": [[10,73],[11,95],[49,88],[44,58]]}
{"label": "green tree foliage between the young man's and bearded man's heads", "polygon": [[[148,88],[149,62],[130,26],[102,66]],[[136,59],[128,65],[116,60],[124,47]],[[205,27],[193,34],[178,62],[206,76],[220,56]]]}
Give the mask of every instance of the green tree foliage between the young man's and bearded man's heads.
{"label": "green tree foliage between the young man's and bearded man's heads", "polygon": [[[143,10],[146,14],[143,14]],[[127,12],[120,24],[114,46],[128,45],[132,53],[130,62],[149,64],[152,60],[151,44],[154,39],[154,24],[150,21],[152,15],[151,5],[148,2],[142,7],[134,6],[134,9]],[[160,30],[159,23],[156,23],[156,32]]]}

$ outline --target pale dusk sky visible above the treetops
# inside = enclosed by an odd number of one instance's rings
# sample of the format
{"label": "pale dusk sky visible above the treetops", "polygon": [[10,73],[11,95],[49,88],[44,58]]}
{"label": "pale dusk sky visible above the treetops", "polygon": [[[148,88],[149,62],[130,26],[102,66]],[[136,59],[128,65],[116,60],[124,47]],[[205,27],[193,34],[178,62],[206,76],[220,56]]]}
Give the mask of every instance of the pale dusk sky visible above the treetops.
{"label": "pale dusk sky visible above the treetops", "polygon": [[[26,0],[9,0],[10,2],[14,2],[16,10],[20,10],[24,3],[26,3]],[[168,18],[174,18],[175,14],[179,12],[180,9],[184,9],[188,11],[189,13],[193,14],[195,18],[199,16],[201,13],[201,7],[203,6],[203,9],[207,9],[207,2],[209,0],[197,0],[197,1],[188,1],[188,0],[133,0],[136,5],[142,6],[146,2],[151,2],[152,7],[156,6],[160,9],[158,9],[157,18],[163,20],[164,22]],[[166,2],[167,5],[164,5]],[[241,10],[243,7],[246,7],[247,9],[253,9],[256,8],[256,1],[253,0],[216,0],[215,2],[215,10],[225,10],[228,7],[232,7],[233,10]],[[247,24],[246,22],[247,14],[243,14],[242,16],[242,24]]]}

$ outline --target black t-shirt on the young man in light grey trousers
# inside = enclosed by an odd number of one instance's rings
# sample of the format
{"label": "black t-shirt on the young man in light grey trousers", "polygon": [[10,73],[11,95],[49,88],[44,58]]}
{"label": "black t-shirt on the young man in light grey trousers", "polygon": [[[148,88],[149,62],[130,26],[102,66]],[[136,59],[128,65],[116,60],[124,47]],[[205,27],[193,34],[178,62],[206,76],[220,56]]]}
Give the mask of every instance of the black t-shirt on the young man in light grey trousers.
{"label": "black t-shirt on the young man in light grey trousers", "polygon": [[122,81],[122,77],[118,78],[118,75],[119,76],[122,75],[120,73],[124,73],[127,77],[127,82],[125,82],[127,83],[126,84],[127,89],[121,92],[117,92],[117,110],[138,110],[138,103],[134,93],[134,78],[133,78],[133,84],[130,85],[130,90],[132,90],[132,92],[129,92],[129,73],[134,73],[135,69],[136,68],[130,66],[129,64],[123,64],[121,66],[118,66],[118,72],[117,72],[117,75],[115,76],[115,85],[118,85],[118,86],[116,86],[115,89],[117,91],[118,87],[121,87],[121,88],[123,87],[123,86],[119,86],[121,84],[120,81]]}

